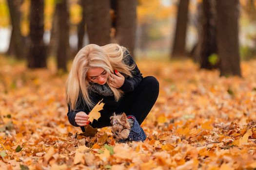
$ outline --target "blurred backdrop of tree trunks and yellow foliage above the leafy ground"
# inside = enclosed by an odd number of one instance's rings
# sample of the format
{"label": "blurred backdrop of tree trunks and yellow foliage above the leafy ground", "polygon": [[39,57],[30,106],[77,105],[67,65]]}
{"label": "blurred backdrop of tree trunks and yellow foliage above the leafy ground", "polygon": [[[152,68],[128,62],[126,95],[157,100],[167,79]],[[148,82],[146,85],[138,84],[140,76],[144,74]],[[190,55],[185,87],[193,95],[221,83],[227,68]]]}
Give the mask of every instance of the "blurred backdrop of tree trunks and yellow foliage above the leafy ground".
{"label": "blurred backdrop of tree trunks and yellow foliage above the leafy ground", "polygon": [[256,55],[256,0],[0,0],[0,53],[67,71],[83,46],[118,43],[135,59],[191,58],[241,75]]}

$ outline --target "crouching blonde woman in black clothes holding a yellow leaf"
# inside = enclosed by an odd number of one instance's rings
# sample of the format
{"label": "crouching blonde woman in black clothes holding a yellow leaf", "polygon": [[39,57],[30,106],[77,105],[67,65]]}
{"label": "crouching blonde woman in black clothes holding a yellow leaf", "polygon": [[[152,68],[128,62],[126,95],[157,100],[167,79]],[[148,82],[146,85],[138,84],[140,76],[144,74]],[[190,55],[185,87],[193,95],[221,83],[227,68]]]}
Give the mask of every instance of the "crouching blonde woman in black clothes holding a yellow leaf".
{"label": "crouching blonde woman in black clothes holding a yellow leaf", "polygon": [[[155,104],[159,84],[155,77],[143,78],[129,51],[118,44],[89,44],[76,55],[67,82],[68,120],[73,126],[110,126],[110,117],[126,113],[141,124]],[[102,100],[103,99],[103,100]],[[93,107],[102,100],[100,118],[88,121]]]}

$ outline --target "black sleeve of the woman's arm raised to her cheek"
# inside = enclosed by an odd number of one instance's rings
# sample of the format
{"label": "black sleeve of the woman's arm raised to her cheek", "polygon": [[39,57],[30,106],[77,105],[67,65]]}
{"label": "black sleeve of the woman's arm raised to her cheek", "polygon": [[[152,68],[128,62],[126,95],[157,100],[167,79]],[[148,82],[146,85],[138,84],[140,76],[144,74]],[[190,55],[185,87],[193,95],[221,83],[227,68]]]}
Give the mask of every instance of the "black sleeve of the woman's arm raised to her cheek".
{"label": "black sleeve of the woman's arm raised to her cheek", "polygon": [[121,89],[123,92],[127,93],[127,92],[132,92],[141,82],[141,80],[143,79],[142,74],[140,73],[134,59],[131,57],[131,55],[129,54],[129,51],[125,51],[124,52],[124,62],[129,65],[132,66],[133,64],[135,64],[135,68],[132,70],[132,75],[133,77],[129,77],[129,76],[124,76],[125,80],[123,85],[119,88]]}

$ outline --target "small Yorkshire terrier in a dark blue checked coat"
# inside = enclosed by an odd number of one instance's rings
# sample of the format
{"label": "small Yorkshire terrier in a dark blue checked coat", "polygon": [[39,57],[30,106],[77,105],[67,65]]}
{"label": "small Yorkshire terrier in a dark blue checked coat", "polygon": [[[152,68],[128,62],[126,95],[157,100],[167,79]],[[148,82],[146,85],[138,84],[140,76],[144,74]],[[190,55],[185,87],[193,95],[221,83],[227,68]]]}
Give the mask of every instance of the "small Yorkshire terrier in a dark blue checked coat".
{"label": "small Yorkshire terrier in a dark blue checked coat", "polygon": [[132,115],[126,116],[125,113],[110,117],[110,123],[112,124],[112,130],[114,138],[120,142],[129,141],[144,141],[146,135],[143,129],[138,124],[136,118]]}

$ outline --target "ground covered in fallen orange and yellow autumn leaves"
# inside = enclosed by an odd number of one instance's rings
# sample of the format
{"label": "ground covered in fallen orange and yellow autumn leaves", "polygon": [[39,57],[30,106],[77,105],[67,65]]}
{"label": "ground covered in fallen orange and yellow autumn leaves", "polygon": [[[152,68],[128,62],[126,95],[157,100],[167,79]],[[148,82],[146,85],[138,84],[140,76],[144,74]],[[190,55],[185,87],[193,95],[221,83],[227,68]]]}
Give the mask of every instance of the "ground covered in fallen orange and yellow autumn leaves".
{"label": "ground covered in fallen orange and yellow autumn leaves", "polygon": [[243,78],[191,61],[138,62],[160,83],[144,142],[118,143],[110,128],[80,135],[69,124],[54,67],[29,70],[0,57],[0,167],[8,170],[234,170],[256,168],[256,61]]}

